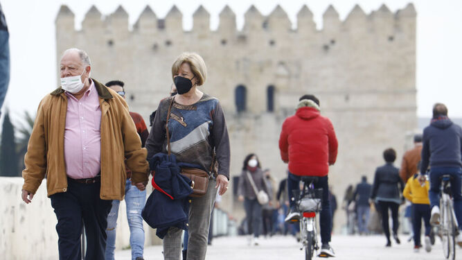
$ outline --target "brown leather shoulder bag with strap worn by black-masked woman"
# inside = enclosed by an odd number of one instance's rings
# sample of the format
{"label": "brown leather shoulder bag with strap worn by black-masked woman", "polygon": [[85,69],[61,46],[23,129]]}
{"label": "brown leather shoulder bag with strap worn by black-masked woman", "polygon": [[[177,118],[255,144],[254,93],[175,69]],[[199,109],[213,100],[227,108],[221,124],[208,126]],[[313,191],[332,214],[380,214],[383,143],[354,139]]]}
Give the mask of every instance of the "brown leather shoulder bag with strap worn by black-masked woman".
{"label": "brown leather shoulder bag with strap worn by black-masked woman", "polygon": [[[170,119],[170,112],[172,110],[172,104],[175,97],[170,101],[167,112],[167,146],[168,146],[168,155],[170,156],[170,134],[168,132],[168,119]],[[212,155],[212,164],[210,166],[210,172],[212,172],[213,164],[215,161],[215,153]],[[201,197],[207,193],[208,188],[208,173],[200,168],[181,168],[181,175],[184,175],[189,180],[191,180],[191,188],[193,188],[193,193],[190,194],[190,197]]]}

